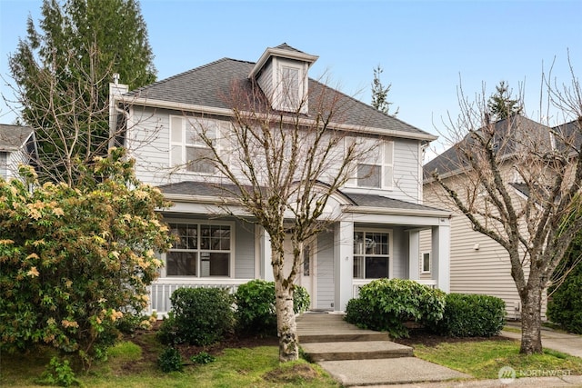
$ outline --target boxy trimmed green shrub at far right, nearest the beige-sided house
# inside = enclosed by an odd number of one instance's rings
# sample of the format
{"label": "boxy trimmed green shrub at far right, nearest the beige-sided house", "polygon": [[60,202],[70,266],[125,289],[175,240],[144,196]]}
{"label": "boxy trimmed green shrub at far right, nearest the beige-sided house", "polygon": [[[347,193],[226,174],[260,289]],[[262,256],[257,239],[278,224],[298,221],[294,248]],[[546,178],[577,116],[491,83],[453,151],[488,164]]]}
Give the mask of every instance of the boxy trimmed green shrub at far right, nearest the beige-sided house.
{"label": "boxy trimmed green shrub at far right, nearest the beige-sided house", "polygon": [[496,296],[447,294],[443,319],[432,330],[453,337],[490,337],[506,323],[506,303]]}

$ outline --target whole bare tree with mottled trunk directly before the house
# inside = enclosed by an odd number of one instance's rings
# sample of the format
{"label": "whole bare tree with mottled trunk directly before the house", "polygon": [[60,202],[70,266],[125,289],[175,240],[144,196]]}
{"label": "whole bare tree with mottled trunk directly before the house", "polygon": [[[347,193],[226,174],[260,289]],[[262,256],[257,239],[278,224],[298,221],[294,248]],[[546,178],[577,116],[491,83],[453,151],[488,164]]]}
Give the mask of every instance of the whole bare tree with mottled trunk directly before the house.
{"label": "whole bare tree with mottled trunk directly before the house", "polygon": [[[246,86],[233,86],[229,99],[234,117],[221,138],[210,135],[204,124],[191,123],[199,125],[212,151],[203,159],[228,183],[221,186],[228,192],[226,212],[234,214],[229,207],[234,197],[269,234],[279,359],[291,361],[299,355],[293,295],[304,246],[337,221],[329,199],[346,184],[362,151],[356,137],[338,129],[346,102],[353,104],[345,95],[316,83],[308,96],[314,114],[307,115],[302,113],[307,96],[294,112],[279,112],[262,92]],[[284,248],[286,236],[290,253]],[[290,257],[292,262],[286,263]]]}

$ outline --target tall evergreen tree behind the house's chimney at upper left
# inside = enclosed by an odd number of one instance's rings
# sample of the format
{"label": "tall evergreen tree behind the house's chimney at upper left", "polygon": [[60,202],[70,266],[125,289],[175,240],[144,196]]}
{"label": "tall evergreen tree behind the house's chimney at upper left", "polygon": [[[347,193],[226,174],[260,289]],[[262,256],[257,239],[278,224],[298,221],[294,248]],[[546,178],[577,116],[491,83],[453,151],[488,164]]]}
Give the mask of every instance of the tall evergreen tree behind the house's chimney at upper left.
{"label": "tall evergreen tree behind the house's chimney at upper left", "polygon": [[45,0],[39,28],[9,56],[24,124],[35,129],[42,180],[75,183],[75,160],[105,155],[109,82],[156,80],[146,23],[135,0]]}

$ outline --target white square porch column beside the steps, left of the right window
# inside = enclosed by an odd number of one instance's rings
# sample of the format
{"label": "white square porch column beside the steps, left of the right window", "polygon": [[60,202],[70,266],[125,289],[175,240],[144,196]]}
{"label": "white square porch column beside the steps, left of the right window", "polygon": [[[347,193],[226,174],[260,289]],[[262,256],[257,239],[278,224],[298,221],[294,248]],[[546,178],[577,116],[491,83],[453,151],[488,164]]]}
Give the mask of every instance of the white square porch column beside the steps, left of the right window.
{"label": "white square porch column beside the steps, left of the right window", "polygon": [[340,221],[334,230],[334,310],[346,311],[347,301],[352,299],[354,286],[354,223]]}

